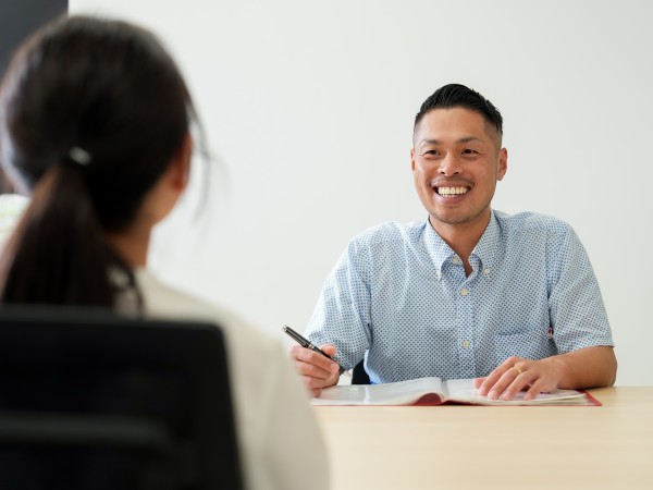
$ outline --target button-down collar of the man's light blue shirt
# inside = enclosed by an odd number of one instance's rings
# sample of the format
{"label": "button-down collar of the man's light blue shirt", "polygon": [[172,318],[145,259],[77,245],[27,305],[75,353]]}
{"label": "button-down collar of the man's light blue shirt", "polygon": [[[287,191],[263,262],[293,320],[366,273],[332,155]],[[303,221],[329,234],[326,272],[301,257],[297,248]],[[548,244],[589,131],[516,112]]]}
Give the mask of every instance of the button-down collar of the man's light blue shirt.
{"label": "button-down collar of the man's light blue shirt", "polygon": [[[426,219],[423,224],[423,233],[422,233],[422,243],[429,258],[432,264],[435,266],[435,271],[438,277],[442,273],[442,265],[451,259],[455,252],[449,247],[444,240],[433,230],[431,226],[431,222],[429,218]],[[481,235],[479,243],[477,243],[476,247],[471,252],[471,257],[477,256],[481,262],[481,267],[483,269],[491,269],[493,258],[496,256],[498,252],[497,248],[500,246],[500,226],[496,220],[496,216],[494,211],[491,211],[490,222],[488,223],[488,228]]]}

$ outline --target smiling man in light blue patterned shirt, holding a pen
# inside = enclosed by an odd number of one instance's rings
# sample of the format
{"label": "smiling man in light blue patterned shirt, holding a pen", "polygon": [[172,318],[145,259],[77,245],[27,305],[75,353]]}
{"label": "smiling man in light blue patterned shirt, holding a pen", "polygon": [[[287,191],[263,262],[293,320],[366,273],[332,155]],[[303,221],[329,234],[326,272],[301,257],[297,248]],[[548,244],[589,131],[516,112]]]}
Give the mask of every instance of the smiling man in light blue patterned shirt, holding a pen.
{"label": "smiling man in light blue patterned shirt, holding a pen", "polygon": [[[306,331],[345,369],[365,359],[374,383],[476,378],[505,400],[614,383],[605,307],[574,230],[491,208],[507,171],[502,136],[498,110],[463,85],[423,102],[410,155],[428,219],[352,240]],[[337,383],[334,362],[299,346],[291,355],[313,395]]]}

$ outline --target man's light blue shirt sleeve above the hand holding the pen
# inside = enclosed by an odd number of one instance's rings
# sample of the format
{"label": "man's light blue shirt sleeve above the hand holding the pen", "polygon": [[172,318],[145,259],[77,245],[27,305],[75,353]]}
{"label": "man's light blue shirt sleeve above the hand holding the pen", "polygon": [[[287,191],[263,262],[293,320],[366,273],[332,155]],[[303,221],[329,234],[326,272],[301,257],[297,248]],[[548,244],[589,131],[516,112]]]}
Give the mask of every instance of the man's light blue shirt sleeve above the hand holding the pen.
{"label": "man's light blue shirt sleeve above the hand holding the pen", "polygon": [[334,344],[336,359],[354,368],[370,346],[369,247],[354,238],[331,271],[306,329],[316,345]]}

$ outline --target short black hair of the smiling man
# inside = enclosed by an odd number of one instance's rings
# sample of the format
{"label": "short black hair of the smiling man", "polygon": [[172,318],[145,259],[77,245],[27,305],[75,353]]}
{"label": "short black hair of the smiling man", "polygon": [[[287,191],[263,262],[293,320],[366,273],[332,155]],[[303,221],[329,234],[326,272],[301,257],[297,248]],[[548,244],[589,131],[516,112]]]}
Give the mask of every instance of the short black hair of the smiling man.
{"label": "short black hair of the smiling man", "polygon": [[500,137],[503,135],[503,118],[490,100],[480,95],[478,91],[460,84],[448,84],[440,87],[433,93],[419,108],[419,112],[415,117],[414,128],[422,120],[422,118],[434,109],[469,109],[478,112],[483,117],[485,122],[494,127]]}

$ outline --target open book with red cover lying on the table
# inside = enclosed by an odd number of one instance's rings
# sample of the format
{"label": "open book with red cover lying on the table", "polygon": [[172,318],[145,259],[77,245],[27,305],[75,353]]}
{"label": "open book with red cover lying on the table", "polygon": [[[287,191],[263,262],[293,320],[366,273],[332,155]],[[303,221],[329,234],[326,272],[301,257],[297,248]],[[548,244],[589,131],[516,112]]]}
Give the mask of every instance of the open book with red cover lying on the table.
{"label": "open book with red cover lying on the table", "polygon": [[540,393],[533,400],[523,400],[526,392],[514,400],[489,400],[473,388],[472,379],[420,378],[384,384],[342,384],[326,388],[312,405],[442,405],[464,403],[472,405],[601,405],[590,394],[576,390],[555,390]]}

